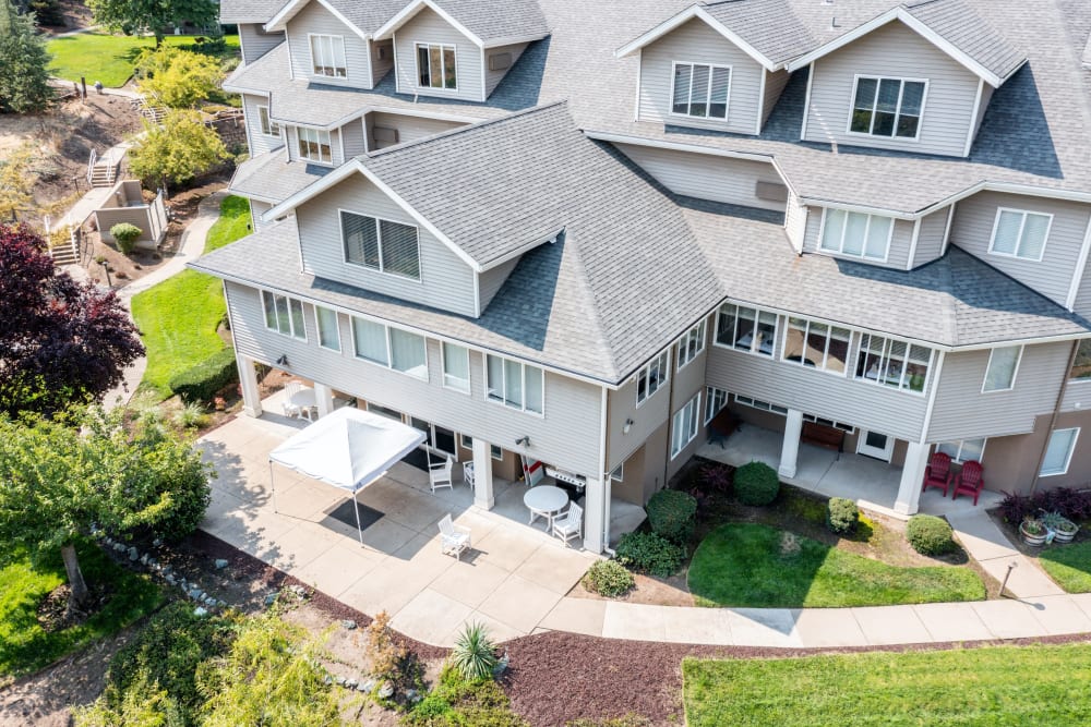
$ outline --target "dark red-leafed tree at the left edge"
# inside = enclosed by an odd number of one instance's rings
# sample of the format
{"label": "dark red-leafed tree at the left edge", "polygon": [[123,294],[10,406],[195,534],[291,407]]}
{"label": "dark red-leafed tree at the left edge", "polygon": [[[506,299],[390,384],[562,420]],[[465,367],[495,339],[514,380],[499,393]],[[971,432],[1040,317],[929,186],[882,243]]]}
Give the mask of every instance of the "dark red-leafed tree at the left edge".
{"label": "dark red-leafed tree at the left edge", "polygon": [[143,354],[113,291],[55,274],[45,240],[0,225],[0,412],[99,400]]}

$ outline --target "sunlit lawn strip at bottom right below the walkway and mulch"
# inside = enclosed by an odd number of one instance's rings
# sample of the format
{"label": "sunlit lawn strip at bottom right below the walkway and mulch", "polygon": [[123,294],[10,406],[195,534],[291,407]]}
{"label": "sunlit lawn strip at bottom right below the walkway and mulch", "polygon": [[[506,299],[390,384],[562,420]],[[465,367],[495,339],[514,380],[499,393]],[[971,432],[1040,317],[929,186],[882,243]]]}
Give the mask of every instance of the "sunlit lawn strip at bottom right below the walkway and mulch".
{"label": "sunlit lawn strip at bottom right below the walkway and mulch", "polygon": [[1086,725],[1091,645],[682,663],[686,724]]}

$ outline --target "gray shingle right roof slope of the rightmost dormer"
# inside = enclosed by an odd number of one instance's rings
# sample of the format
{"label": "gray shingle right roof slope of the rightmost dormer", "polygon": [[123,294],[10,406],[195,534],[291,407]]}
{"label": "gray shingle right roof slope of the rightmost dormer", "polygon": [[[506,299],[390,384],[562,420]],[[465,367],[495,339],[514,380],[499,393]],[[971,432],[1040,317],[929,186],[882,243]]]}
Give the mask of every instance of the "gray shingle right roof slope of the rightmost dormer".
{"label": "gray shingle right roof slope of the rightmost dormer", "polygon": [[906,5],[906,10],[1002,78],[1027,60],[1026,53],[1012,47],[962,0],[924,0]]}

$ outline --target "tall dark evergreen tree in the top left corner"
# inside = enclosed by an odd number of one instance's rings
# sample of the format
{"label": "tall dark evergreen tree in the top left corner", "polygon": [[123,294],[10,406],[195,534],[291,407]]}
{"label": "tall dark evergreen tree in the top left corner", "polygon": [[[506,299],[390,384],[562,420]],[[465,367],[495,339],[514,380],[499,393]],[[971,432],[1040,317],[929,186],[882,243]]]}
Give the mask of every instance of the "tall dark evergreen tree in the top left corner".
{"label": "tall dark evergreen tree in the top left corner", "polygon": [[34,15],[0,0],[0,113],[31,113],[49,105],[49,58]]}

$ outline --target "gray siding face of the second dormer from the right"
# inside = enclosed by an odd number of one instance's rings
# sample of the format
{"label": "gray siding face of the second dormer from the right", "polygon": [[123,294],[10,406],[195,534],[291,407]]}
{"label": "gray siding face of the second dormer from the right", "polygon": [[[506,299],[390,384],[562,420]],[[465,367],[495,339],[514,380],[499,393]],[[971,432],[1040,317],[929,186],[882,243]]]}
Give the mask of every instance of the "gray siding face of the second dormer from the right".
{"label": "gray siding face of the second dormer from the right", "polygon": [[[671,114],[674,61],[731,66],[727,120]],[[694,19],[640,51],[640,120],[753,134],[762,113],[763,73],[757,61]]]}

